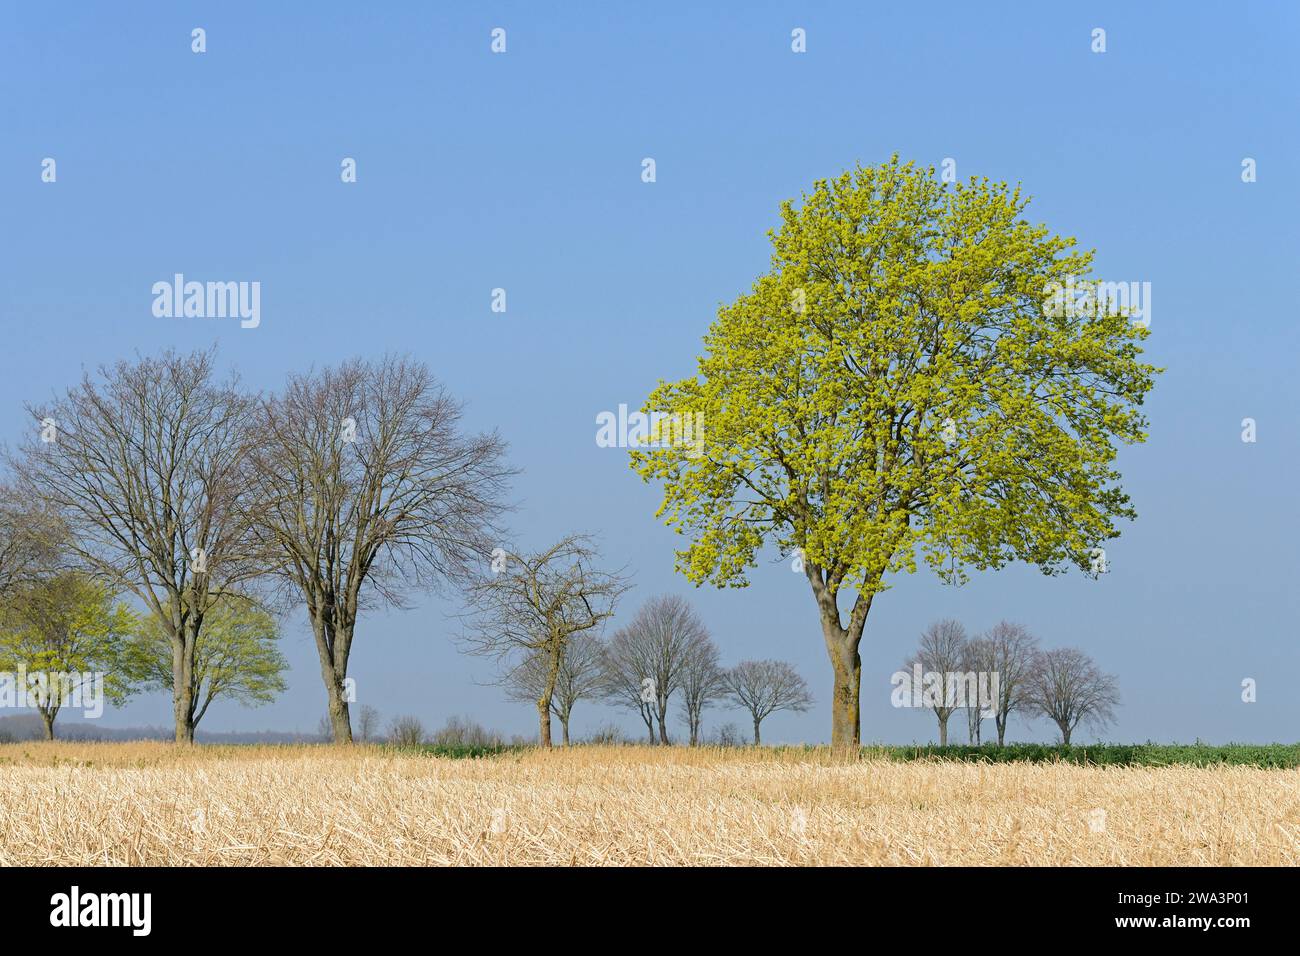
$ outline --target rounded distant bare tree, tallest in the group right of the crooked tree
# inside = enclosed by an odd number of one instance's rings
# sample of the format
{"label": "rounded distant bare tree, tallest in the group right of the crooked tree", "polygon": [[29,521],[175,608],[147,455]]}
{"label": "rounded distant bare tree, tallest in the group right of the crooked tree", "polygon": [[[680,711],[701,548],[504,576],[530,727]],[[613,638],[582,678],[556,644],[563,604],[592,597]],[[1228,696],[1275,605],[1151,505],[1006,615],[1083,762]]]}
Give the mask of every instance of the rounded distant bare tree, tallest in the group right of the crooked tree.
{"label": "rounded distant bare tree, tallest in the group right of the crooked tree", "polygon": [[[692,654],[708,640],[708,630],[686,601],[651,597],[610,641],[607,696],[642,711],[642,719],[649,710],[659,724],[659,743],[667,745],[668,701],[681,687]],[[653,728],[650,736],[654,743]]]}

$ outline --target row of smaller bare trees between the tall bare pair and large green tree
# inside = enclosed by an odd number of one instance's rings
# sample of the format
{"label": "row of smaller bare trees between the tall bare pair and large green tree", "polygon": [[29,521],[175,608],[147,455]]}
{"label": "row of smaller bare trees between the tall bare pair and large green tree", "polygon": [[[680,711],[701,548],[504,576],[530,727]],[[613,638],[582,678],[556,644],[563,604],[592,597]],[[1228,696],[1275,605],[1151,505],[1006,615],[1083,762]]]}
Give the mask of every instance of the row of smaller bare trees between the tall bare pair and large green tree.
{"label": "row of smaller bare trees between the tall bare pair and large green tree", "polygon": [[755,743],[766,717],[811,705],[807,684],[788,663],[724,669],[705,623],[679,597],[650,598],[602,640],[629,584],[621,570],[599,564],[593,541],[571,535],[537,553],[500,550],[493,572],[469,591],[463,644],[497,661],[511,700],[536,706],[542,747],[551,745],[552,718],[569,743],[573,706],[584,698],[634,711],[651,744],[670,744],[676,697],[692,745],[699,743],[705,709],[720,701],[750,713]]}

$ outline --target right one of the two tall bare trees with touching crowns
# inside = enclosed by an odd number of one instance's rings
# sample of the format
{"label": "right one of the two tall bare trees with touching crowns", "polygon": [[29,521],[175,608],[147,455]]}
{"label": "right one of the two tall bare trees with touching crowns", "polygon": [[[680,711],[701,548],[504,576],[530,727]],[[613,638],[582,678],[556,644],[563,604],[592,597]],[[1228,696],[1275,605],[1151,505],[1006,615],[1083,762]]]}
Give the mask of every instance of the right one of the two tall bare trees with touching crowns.
{"label": "right one of the two tall bare trees with touching crowns", "polygon": [[250,470],[256,527],[286,591],[307,604],[335,743],[351,743],[343,682],[356,620],[412,589],[468,576],[512,473],[495,433],[428,367],[354,359],[289,380],[260,408]]}

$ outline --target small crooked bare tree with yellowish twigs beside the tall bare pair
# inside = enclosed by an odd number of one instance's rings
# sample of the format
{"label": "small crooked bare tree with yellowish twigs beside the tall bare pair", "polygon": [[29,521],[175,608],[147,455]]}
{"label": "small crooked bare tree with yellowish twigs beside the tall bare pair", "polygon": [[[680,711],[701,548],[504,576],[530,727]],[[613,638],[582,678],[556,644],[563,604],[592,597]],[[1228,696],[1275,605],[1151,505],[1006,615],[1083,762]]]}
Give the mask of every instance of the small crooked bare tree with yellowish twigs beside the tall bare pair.
{"label": "small crooked bare tree with yellowish twigs beside the tall bare pair", "polygon": [[[497,658],[507,675],[520,666],[540,671],[533,704],[542,747],[551,745],[551,711],[571,644],[614,617],[628,589],[620,572],[598,570],[597,561],[599,553],[582,535],[536,554],[502,549],[497,568],[469,589],[469,652]],[[534,657],[540,659],[530,663]],[[567,739],[567,718],[564,723]]]}

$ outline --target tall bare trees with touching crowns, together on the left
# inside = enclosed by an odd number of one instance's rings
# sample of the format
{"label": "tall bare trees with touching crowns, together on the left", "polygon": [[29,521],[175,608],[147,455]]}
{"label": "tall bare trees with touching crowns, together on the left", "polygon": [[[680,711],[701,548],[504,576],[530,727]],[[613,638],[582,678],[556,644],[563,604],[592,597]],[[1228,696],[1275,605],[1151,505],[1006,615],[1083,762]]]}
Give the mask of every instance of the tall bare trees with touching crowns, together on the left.
{"label": "tall bare trees with touching crowns, together on the left", "polygon": [[[0,587],[42,549],[134,594],[172,649],[177,741],[192,741],[196,649],[233,600],[306,605],[335,741],[363,611],[468,579],[498,537],[512,470],[495,433],[404,358],[290,376],[274,394],[214,351],[86,372],[8,454]],[[16,528],[21,531],[14,531]]]}

